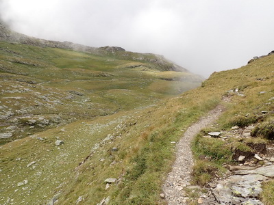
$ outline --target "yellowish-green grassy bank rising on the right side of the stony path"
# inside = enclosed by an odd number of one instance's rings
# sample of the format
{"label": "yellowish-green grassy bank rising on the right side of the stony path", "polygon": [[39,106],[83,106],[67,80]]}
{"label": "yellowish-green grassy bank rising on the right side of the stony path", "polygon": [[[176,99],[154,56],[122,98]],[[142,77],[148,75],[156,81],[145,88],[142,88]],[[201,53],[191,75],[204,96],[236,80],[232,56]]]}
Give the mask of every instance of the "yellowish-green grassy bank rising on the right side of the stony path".
{"label": "yellowish-green grassy bank rising on the right side of the stony path", "polygon": [[[260,167],[270,163],[267,159],[273,156],[274,145],[273,79],[274,56],[270,55],[237,70],[214,73],[203,83],[203,87],[214,87],[216,92],[227,90],[223,96],[229,101],[216,124],[201,131],[193,142],[197,159],[193,182],[209,187],[208,182],[222,176],[230,167]],[[221,137],[210,137],[210,132],[220,132]],[[261,200],[273,204],[270,194],[273,182],[266,183],[263,189]]]}

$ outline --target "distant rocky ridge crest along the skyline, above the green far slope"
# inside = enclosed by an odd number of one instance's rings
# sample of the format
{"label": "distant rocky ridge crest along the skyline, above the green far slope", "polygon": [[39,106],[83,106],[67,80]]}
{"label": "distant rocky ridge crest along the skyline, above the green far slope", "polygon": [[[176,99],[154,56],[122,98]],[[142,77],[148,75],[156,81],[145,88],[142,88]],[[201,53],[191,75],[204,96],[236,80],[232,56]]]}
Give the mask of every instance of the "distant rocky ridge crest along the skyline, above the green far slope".
{"label": "distant rocky ridge crest along the skyline, above the green far slope", "polygon": [[[180,72],[189,72],[186,68],[182,68],[173,62],[165,59],[162,55],[155,55],[152,53],[132,53],[125,51],[125,49],[118,46],[103,46],[100,48],[95,48],[91,46],[85,46],[82,44],[75,44],[73,42],[59,42],[53,40],[44,40],[40,38],[34,38],[26,36],[22,33],[18,33],[8,29],[3,24],[0,23],[0,41],[5,42],[17,42],[21,44],[27,44],[32,46],[40,47],[50,47],[58,49],[71,49],[73,51],[80,51],[91,53],[94,55],[108,55],[112,53],[118,59],[128,59],[128,60],[137,60],[137,61],[147,61],[158,64],[162,70],[171,70],[171,71],[180,71]],[[203,79],[200,77],[200,79]]]}

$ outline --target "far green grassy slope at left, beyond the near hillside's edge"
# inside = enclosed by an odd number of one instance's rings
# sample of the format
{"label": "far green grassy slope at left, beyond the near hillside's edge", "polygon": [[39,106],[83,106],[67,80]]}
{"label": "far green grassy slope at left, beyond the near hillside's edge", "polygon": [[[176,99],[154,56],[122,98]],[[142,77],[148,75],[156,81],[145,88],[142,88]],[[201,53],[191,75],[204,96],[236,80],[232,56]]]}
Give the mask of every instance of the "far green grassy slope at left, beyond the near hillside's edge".
{"label": "far green grassy slope at left, beyond the near hillside's edge", "polygon": [[0,133],[16,126],[8,134],[12,137],[2,135],[0,143],[75,120],[147,107],[201,83],[195,74],[170,70],[167,61],[119,59],[125,51],[105,52],[0,42]]}

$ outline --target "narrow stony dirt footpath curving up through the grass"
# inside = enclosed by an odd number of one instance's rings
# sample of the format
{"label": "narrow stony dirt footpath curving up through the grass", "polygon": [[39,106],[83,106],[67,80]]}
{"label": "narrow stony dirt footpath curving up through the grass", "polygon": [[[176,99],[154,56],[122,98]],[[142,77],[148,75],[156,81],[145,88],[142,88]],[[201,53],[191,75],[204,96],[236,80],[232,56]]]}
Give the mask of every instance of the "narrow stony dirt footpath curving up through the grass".
{"label": "narrow stony dirt footpath curving up through the grass", "polygon": [[192,124],[192,126],[187,129],[184,137],[177,143],[175,163],[162,186],[166,202],[168,202],[169,205],[186,204],[186,198],[182,189],[190,185],[190,174],[193,166],[190,142],[202,128],[212,124],[212,122],[221,115],[222,111],[223,107],[221,107],[221,105],[217,106],[210,111],[206,117],[203,117],[199,122]]}

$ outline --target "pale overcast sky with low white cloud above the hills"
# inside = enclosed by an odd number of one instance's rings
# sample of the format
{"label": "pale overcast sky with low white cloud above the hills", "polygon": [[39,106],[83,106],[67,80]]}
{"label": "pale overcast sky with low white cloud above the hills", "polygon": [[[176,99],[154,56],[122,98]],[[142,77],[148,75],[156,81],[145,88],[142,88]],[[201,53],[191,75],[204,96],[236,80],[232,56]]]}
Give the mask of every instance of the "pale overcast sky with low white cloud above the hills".
{"label": "pale overcast sky with low white cloud above the hills", "polygon": [[156,53],[204,77],[273,51],[273,11],[273,0],[0,0],[15,31]]}

